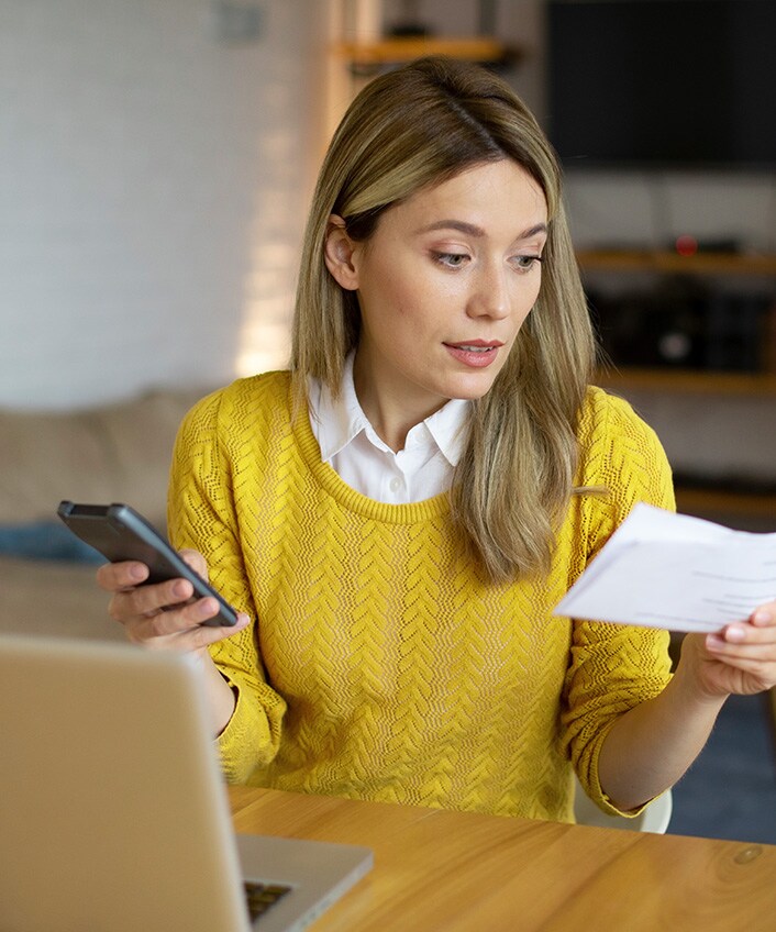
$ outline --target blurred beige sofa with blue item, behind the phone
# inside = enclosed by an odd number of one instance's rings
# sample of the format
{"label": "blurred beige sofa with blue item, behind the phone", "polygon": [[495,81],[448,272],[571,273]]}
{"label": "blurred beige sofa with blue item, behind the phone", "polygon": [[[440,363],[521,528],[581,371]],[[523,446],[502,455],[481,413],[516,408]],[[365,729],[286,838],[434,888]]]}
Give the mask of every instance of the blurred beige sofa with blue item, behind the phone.
{"label": "blurred beige sofa with blue item, behind the phone", "polygon": [[175,434],[207,389],[67,412],[0,409],[0,632],[120,640],[95,582],[102,558],[56,517],[60,500],[123,501],[165,528]]}

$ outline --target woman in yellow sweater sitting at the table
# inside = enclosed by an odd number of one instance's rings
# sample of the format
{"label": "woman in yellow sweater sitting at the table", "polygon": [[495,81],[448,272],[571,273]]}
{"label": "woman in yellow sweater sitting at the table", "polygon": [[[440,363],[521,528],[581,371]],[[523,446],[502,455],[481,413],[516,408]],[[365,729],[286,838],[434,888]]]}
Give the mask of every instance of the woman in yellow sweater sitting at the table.
{"label": "woman in yellow sweater sitting at the table", "polygon": [[243,614],[100,570],[131,640],[196,652],[235,781],[570,820],[636,812],[725,697],[776,681],[776,603],[688,636],[551,612],[669,469],[595,356],[553,153],[498,78],[425,59],[354,101],[307,228],[290,373],[186,419],[169,526]]}

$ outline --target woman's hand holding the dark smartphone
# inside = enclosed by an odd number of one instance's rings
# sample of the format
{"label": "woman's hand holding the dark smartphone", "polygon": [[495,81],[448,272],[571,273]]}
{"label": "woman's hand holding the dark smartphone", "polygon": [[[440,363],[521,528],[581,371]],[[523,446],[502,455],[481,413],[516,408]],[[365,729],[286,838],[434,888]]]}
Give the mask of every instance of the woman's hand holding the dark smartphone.
{"label": "woman's hand holding the dark smartphone", "polygon": [[[197,551],[180,555],[203,579],[208,578],[204,557]],[[193,588],[187,579],[143,585],[148,567],[136,561],[108,563],[97,570],[97,581],[111,593],[109,613],[124,625],[126,637],[135,644],[157,650],[190,651],[202,659],[209,644],[241,631],[248,617],[240,613],[236,625],[202,624],[218,614],[215,599],[192,600]]]}

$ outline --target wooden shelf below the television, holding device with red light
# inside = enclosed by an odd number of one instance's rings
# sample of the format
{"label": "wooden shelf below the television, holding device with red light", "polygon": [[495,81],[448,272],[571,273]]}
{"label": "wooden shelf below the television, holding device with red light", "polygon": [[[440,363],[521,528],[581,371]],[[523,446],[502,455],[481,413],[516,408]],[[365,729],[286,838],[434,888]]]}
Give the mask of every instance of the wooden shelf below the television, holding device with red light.
{"label": "wooden shelf below the television, holding device with red light", "polygon": [[738,253],[678,253],[639,249],[579,249],[577,262],[583,271],[677,271],[705,275],[776,275],[776,256]]}

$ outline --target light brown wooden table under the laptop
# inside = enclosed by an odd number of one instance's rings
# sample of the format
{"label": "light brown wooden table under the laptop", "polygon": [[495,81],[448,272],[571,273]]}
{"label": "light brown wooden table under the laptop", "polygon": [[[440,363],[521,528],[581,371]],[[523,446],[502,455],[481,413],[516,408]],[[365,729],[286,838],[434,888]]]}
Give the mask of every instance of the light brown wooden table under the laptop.
{"label": "light brown wooden table under the laptop", "polygon": [[315,932],[776,929],[776,846],[233,787],[239,832],[364,844]]}

